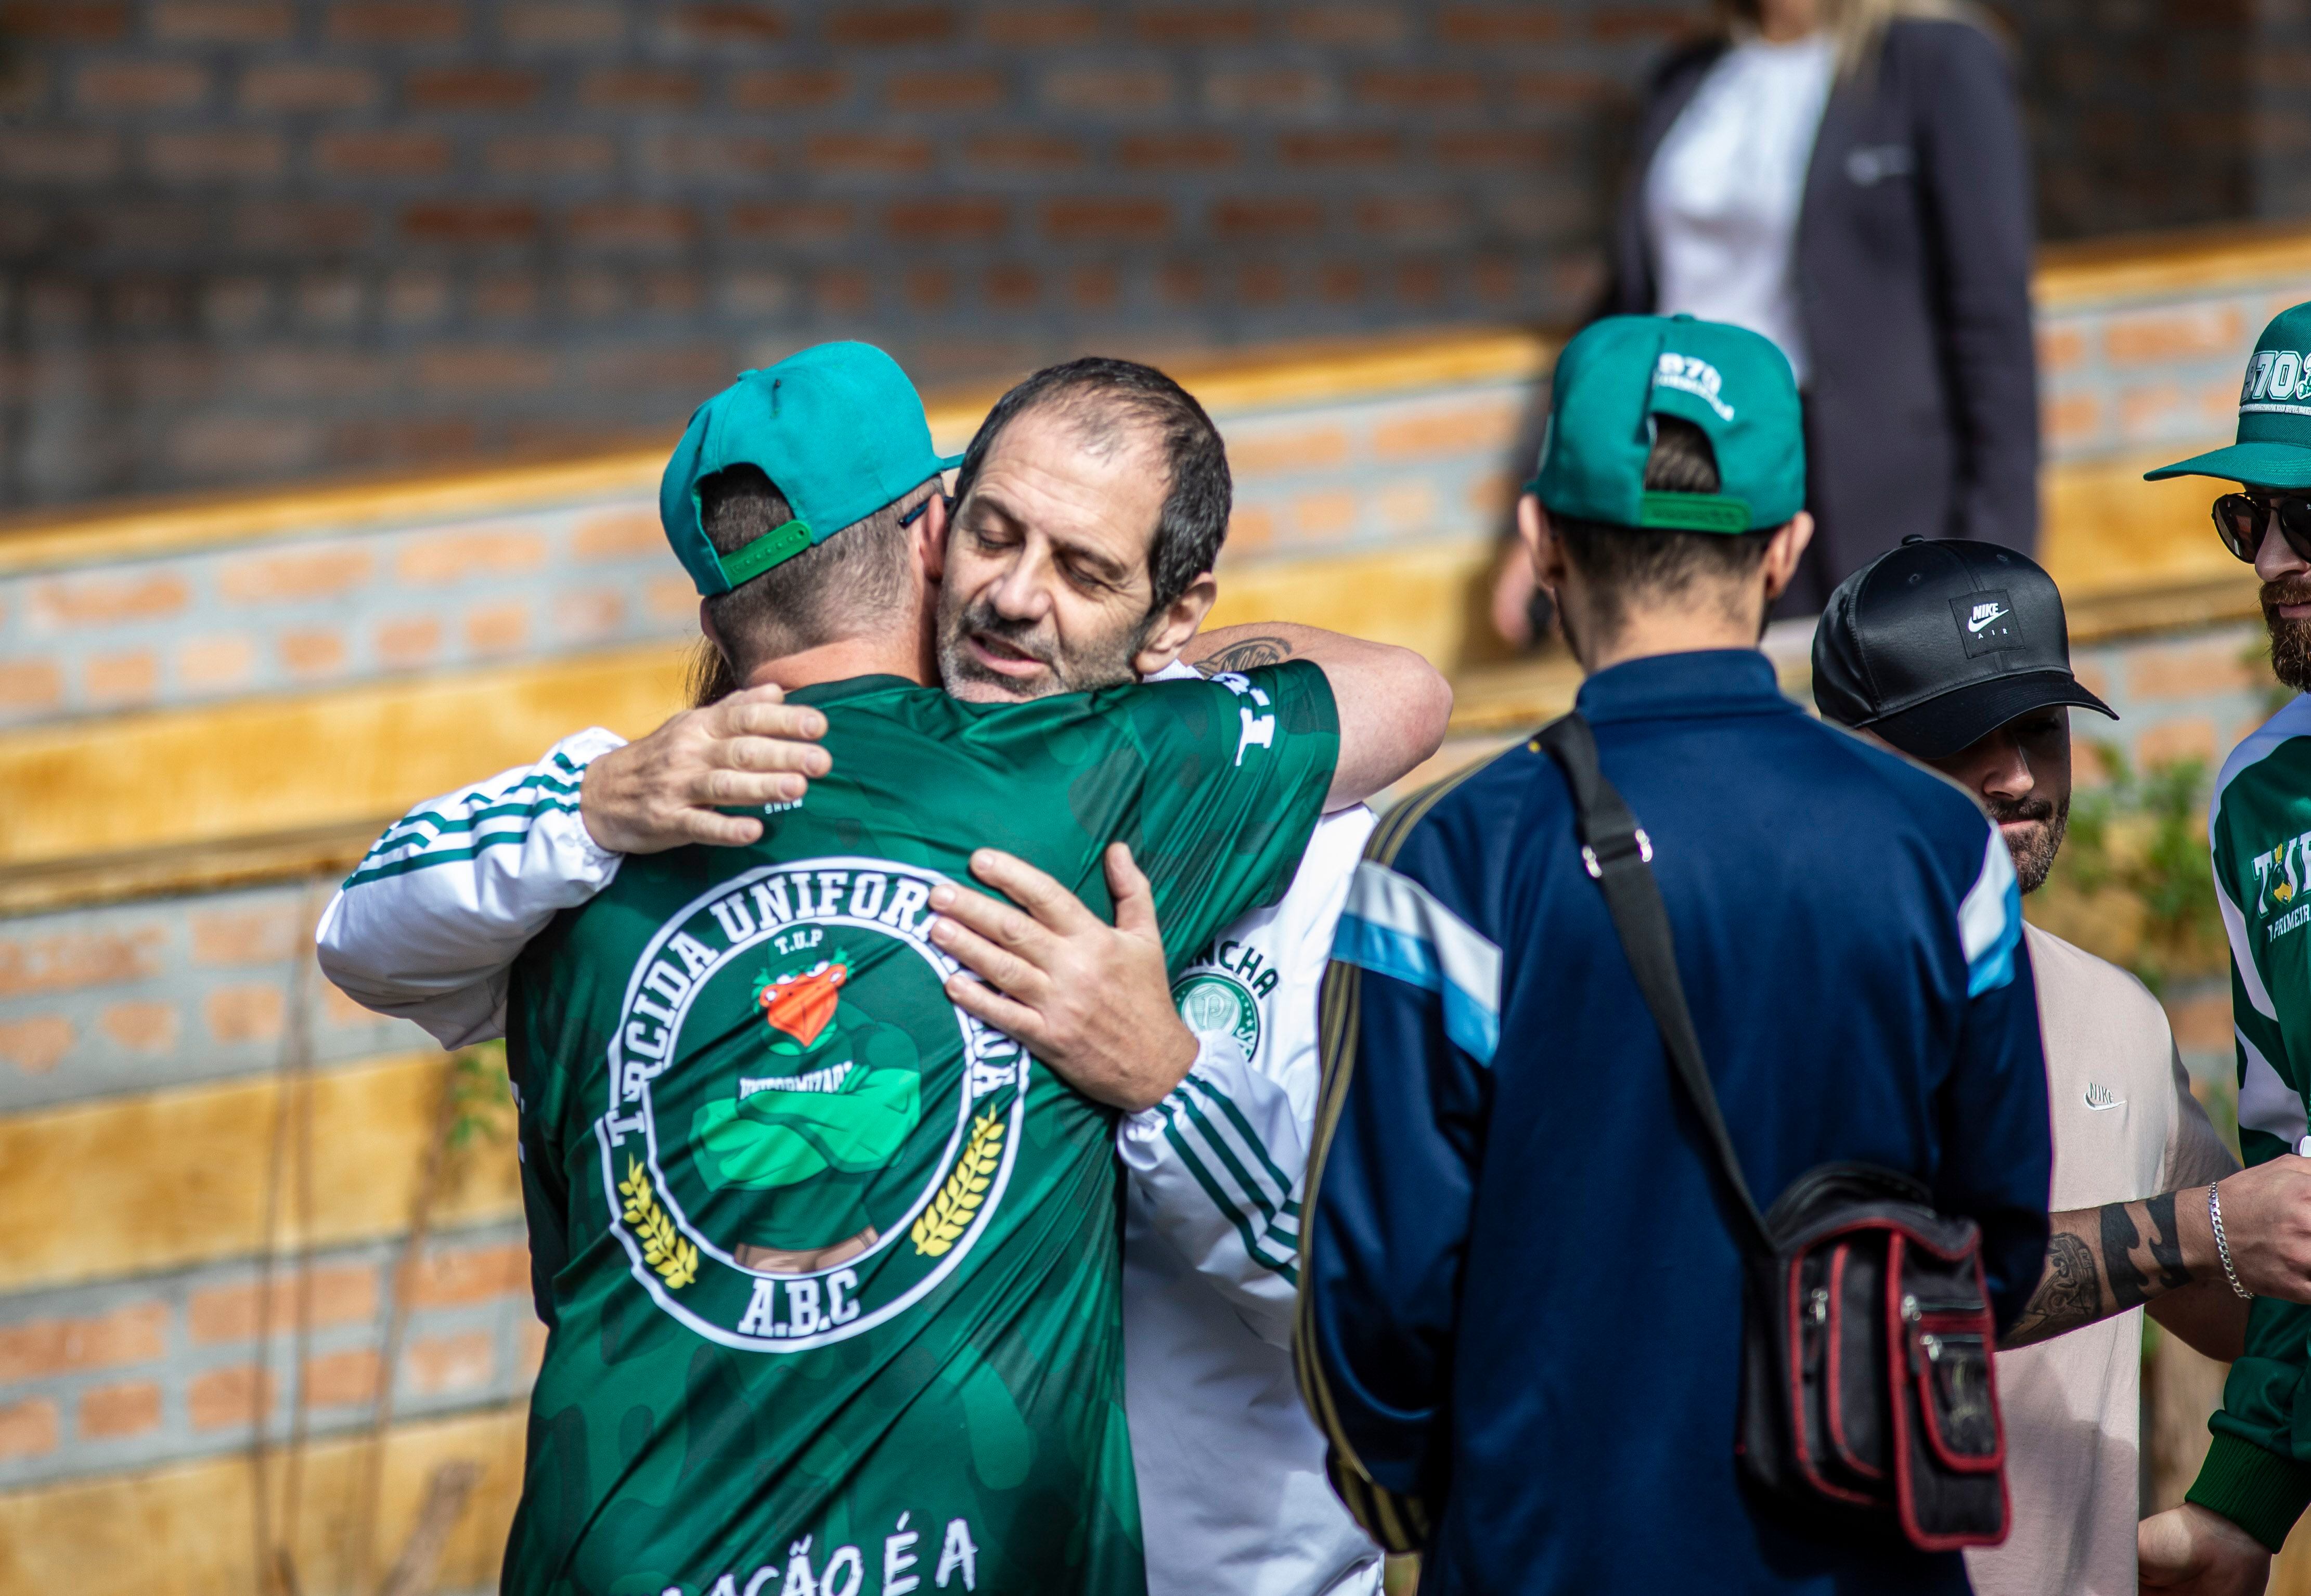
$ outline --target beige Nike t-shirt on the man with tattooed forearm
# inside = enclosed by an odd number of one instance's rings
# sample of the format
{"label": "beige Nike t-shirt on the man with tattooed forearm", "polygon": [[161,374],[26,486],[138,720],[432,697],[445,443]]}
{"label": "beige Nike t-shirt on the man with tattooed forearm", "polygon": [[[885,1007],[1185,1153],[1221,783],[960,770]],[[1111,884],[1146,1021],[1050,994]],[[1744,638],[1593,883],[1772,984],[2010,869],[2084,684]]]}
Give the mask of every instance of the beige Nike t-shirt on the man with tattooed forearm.
{"label": "beige Nike t-shirt on the man with tattooed forearm", "polygon": [[[2149,989],[2038,926],[2022,933],[2045,1032],[2054,1210],[2205,1189],[2235,1171]],[[1976,1591],[2135,1596],[2140,1390],[2140,1307],[1999,1353],[2013,1534],[1967,1552]]]}

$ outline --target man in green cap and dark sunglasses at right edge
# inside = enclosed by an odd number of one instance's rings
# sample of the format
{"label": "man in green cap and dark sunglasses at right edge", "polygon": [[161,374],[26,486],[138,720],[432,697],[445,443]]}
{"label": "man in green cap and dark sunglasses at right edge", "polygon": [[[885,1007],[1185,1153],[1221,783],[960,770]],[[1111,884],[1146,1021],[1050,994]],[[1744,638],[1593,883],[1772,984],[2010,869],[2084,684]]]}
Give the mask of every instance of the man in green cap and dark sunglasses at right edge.
{"label": "man in green cap and dark sunglasses at right edge", "polygon": [[[2311,693],[2311,305],[2256,344],[2230,448],[2149,473],[2230,478],[2216,534],[2262,577],[2272,670]],[[2242,741],[2207,813],[2216,901],[2230,933],[2239,1053],[2239,1150],[2249,1164],[2311,1153],[2311,698]],[[2295,1220],[2302,1229],[2311,1215]],[[2221,1231],[2219,1231],[2221,1236]],[[2242,1238],[2228,1240],[2232,1250]],[[2299,1282],[2311,1287],[2311,1282]],[[2244,1293],[2244,1291],[2242,1291]],[[2311,1296],[2311,1289],[2304,1291]],[[2182,1508],[2142,1524],[2142,1587],[2260,1591],[2269,1554],[2311,1504],[2311,1307],[2256,1298],[2246,1356],[2230,1365],[2214,1444]]]}

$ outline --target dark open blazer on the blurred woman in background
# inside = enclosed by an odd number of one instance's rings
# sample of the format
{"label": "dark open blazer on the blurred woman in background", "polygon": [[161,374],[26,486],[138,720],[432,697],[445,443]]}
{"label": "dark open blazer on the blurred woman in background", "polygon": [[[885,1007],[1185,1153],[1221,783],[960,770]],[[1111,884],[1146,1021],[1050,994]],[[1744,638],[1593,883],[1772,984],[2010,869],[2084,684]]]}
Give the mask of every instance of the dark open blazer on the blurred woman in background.
{"label": "dark open blazer on the blurred woman in background", "polygon": [[[1678,51],[1652,79],[1608,312],[1655,309],[1645,173],[1724,49]],[[1819,559],[1784,610],[1821,610],[1909,534],[2038,540],[2029,256],[2029,152],[2006,55],[1967,23],[1888,25],[1874,69],[1830,92],[1805,173],[1796,261]]]}

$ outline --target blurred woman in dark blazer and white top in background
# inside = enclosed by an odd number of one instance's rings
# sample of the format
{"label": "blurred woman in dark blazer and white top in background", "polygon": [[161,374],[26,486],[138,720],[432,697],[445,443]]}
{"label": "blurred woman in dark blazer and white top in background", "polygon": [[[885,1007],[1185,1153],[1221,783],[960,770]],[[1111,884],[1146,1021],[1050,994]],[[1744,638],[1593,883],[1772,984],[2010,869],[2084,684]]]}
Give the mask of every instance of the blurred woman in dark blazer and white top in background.
{"label": "blurred woman in dark blazer and white top in background", "polygon": [[[2029,150],[2001,46],[1948,0],[1722,9],[1648,85],[1602,312],[1789,356],[1816,529],[1777,614],[1911,534],[2031,550]],[[1511,559],[1495,594],[1511,642],[1530,580]]]}

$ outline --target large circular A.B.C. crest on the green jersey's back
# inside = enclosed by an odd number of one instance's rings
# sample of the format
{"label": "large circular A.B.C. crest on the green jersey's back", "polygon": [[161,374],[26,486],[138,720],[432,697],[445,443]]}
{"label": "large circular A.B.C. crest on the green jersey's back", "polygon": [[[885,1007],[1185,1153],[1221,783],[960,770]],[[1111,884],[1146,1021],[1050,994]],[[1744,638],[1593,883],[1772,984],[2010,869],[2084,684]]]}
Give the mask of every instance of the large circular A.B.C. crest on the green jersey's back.
{"label": "large circular A.B.C. crest on the green jersey's back", "polygon": [[633,1277],[726,1347],[857,1335],[971,1252],[1010,1183],[1026,1053],[945,995],[945,878],[802,859],[684,905],[642,949],[596,1120]]}

